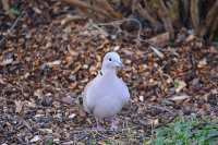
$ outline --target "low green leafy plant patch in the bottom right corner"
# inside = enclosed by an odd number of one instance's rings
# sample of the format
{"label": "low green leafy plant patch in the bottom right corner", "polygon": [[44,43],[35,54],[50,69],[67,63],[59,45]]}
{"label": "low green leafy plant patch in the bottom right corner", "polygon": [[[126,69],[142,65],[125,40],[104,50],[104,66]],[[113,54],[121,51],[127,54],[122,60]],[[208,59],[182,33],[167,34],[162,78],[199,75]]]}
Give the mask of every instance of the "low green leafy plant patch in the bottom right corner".
{"label": "low green leafy plant patch in the bottom right corner", "polygon": [[154,145],[216,145],[218,123],[196,117],[179,117],[155,130]]}

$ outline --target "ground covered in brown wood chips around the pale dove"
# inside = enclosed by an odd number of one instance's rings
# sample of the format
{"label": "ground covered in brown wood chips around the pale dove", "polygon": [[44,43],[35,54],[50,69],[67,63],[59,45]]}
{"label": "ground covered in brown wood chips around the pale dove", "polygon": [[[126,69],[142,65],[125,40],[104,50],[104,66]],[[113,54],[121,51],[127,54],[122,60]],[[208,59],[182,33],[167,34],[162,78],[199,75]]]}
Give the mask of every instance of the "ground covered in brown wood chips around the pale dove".
{"label": "ground covered in brown wood chips around the pale dove", "polygon": [[[137,37],[104,35],[97,22],[69,21],[75,14],[69,5],[49,4],[23,3],[24,14],[8,34],[16,19],[0,15],[1,144],[143,144],[177,116],[217,119],[215,46],[187,36],[159,47],[158,55]],[[80,95],[111,50],[125,64],[119,75],[131,102],[118,116],[118,132],[99,133],[92,130],[95,120],[83,111]]]}

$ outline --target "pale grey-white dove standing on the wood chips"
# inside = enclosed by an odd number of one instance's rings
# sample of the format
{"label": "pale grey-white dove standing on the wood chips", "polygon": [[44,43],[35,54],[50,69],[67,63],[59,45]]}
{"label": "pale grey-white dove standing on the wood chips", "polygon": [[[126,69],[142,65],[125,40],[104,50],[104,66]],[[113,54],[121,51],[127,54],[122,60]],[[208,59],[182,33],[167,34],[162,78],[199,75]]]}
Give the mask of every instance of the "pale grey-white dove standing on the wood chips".
{"label": "pale grey-white dove standing on the wood chips", "polygon": [[122,61],[117,52],[108,52],[104,57],[101,70],[85,87],[83,106],[86,112],[93,113],[96,119],[97,130],[102,119],[111,119],[111,130],[117,130],[116,114],[130,100],[128,86],[117,76],[117,71],[122,68]]}

